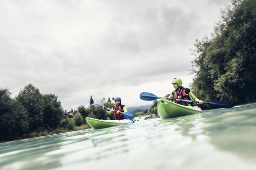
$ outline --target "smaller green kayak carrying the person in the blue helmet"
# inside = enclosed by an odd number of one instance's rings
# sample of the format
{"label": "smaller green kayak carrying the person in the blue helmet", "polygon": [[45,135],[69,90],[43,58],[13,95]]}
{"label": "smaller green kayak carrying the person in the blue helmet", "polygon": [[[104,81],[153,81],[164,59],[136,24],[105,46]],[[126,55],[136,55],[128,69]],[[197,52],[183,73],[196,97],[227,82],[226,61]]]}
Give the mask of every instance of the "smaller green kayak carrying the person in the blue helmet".
{"label": "smaller green kayak carrying the person in the blue helmet", "polygon": [[121,124],[133,123],[132,120],[123,119],[123,120],[99,120],[94,118],[85,118],[86,122],[93,127],[94,129],[103,129],[106,127],[118,126]]}

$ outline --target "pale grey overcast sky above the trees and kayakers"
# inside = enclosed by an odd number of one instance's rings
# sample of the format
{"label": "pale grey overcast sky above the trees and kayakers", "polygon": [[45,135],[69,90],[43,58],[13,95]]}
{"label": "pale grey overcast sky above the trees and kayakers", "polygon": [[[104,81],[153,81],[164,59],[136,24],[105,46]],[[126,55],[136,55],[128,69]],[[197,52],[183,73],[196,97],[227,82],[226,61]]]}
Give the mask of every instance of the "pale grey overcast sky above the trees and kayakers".
{"label": "pale grey overcast sky above the trees and kayakers", "polygon": [[0,88],[28,83],[64,109],[105,97],[127,107],[188,87],[195,39],[210,36],[221,0],[0,0]]}

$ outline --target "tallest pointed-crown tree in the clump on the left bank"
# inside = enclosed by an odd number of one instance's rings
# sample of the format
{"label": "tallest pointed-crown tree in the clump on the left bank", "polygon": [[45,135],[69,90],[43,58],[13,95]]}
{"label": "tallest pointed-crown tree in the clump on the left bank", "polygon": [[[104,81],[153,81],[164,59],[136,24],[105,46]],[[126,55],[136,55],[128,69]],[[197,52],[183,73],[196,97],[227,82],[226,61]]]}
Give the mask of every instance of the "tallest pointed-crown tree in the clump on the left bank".
{"label": "tallest pointed-crown tree in the clump on the left bank", "polygon": [[16,99],[27,109],[30,131],[42,127],[44,103],[39,89],[30,83],[19,92]]}

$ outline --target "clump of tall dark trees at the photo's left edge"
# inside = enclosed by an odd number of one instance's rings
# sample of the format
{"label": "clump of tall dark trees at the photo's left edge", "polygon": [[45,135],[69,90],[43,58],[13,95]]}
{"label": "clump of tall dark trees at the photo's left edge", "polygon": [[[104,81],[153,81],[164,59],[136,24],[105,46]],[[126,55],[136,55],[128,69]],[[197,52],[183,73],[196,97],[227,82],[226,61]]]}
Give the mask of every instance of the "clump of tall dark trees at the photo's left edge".
{"label": "clump of tall dark trees at the photo's left edge", "polygon": [[27,137],[34,131],[56,129],[62,107],[54,94],[41,94],[33,84],[26,85],[15,98],[0,89],[0,140]]}

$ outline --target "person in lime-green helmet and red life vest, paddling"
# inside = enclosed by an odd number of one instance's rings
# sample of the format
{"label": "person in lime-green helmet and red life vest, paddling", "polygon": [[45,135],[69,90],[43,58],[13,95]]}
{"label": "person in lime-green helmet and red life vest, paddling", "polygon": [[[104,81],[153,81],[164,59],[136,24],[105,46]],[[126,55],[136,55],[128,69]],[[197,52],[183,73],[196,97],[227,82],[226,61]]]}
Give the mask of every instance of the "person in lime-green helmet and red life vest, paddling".
{"label": "person in lime-green helmet and red life vest, paddling", "polygon": [[[177,99],[182,99],[182,100],[191,100],[193,98],[194,101],[199,102],[199,104],[202,104],[203,101],[199,100],[188,88],[182,87],[182,80],[180,78],[174,78],[172,80],[172,84],[174,87],[174,91],[168,96],[168,97],[163,97],[163,98],[177,98]],[[191,97],[191,98],[190,98]],[[184,101],[175,101],[178,104],[185,105],[185,106],[193,106],[193,103],[187,103]]]}

